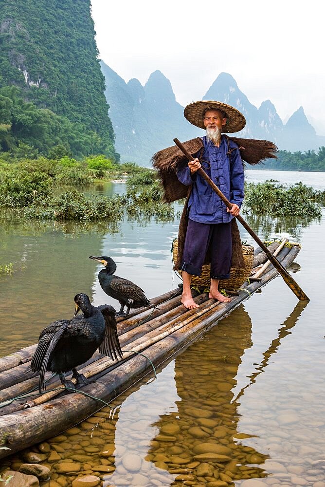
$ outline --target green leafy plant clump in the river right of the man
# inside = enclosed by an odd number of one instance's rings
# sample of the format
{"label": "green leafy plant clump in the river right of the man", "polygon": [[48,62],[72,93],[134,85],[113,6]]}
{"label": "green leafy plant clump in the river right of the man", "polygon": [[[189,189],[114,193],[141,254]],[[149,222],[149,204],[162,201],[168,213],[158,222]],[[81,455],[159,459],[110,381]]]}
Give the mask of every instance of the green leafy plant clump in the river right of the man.
{"label": "green leafy plant clump in the river right of the man", "polygon": [[245,184],[244,211],[258,215],[320,217],[317,191],[303,183],[291,186],[271,182]]}

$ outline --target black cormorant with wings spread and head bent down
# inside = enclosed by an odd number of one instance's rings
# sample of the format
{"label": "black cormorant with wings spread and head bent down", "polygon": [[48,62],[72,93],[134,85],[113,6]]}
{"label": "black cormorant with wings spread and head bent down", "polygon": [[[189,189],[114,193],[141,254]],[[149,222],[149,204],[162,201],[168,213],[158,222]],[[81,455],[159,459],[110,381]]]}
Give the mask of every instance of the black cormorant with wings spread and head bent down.
{"label": "black cormorant with wings spread and head bent down", "polygon": [[[108,355],[112,360],[122,351],[116,331],[116,311],[107,304],[96,308],[86,294],[74,297],[74,318],[54,321],[41,332],[31,369],[39,372],[39,393],[45,391],[45,373],[55,372],[65,387],[75,388],[64,373],[72,370],[77,384],[90,384],[76,367],[87,362],[95,350]],[[81,309],[84,316],[76,316]]]}

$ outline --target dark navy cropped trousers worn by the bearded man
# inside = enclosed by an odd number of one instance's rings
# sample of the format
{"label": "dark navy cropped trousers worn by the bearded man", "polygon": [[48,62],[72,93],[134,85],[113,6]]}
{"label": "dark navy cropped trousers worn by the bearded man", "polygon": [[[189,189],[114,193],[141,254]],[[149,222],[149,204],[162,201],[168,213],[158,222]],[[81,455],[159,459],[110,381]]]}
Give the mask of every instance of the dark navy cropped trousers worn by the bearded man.
{"label": "dark navy cropped trousers worn by the bearded man", "polygon": [[228,279],[232,257],[231,223],[188,221],[180,270],[200,276],[211,243],[211,279]]}

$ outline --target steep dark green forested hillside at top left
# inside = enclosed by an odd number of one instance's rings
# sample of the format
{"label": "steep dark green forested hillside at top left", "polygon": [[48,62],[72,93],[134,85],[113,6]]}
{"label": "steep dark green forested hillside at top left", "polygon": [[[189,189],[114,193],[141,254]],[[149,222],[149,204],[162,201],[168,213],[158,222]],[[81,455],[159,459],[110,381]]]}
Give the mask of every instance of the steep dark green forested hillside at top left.
{"label": "steep dark green forested hillside at top left", "polygon": [[[0,144],[115,159],[90,0],[1,0]],[[12,87],[15,87],[14,89]]]}

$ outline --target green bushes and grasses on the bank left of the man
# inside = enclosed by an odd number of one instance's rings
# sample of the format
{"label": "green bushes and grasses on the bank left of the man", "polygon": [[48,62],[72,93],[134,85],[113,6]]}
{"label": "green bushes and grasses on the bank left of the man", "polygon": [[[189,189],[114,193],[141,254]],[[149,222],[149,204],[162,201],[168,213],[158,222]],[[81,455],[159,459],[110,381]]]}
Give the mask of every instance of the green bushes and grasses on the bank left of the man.
{"label": "green bushes and grasses on the bank left of the man", "polygon": [[[101,171],[108,176],[108,170],[111,177],[130,174],[126,195],[108,198],[71,190],[70,186],[89,185]],[[60,221],[117,222],[125,212],[132,217],[154,215],[160,219],[175,215],[173,206],[162,203],[162,188],[153,169],[113,164],[104,156],[82,162],[68,156],[23,159],[15,164],[0,161],[0,206],[12,208],[25,218]]]}

